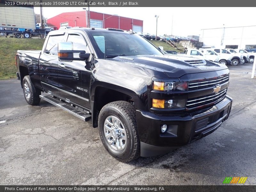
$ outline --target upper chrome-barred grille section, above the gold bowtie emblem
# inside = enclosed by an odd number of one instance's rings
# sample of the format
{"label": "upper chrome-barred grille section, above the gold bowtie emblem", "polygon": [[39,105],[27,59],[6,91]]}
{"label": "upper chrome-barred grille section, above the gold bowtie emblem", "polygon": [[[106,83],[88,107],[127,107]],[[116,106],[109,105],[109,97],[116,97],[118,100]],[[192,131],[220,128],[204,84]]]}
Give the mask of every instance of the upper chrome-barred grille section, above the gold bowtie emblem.
{"label": "upper chrome-barred grille section, above the gold bowtie emblem", "polygon": [[217,84],[224,84],[229,81],[229,75],[225,76],[220,76],[219,78],[211,78],[211,79],[206,79],[206,80],[201,80],[201,81],[191,81],[188,83],[188,91],[190,90],[197,90],[197,89],[203,89],[203,88],[208,88],[212,87]]}

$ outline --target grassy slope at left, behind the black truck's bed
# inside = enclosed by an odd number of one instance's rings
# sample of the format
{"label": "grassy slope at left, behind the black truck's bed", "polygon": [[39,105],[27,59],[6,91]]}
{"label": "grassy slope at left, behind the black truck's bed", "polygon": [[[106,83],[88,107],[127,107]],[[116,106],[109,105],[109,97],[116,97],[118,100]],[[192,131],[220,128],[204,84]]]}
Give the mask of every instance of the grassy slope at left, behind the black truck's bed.
{"label": "grassy slope at left, behind the black truck's bed", "polygon": [[0,37],[0,80],[16,77],[17,50],[41,50],[45,39]]}

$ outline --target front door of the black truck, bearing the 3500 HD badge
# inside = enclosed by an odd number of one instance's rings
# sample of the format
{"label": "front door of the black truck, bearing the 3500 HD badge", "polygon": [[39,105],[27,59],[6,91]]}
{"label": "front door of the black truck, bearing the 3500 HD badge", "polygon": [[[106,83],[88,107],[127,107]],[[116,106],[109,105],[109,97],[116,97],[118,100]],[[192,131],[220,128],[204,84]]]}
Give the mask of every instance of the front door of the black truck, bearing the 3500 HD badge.
{"label": "front door of the black truck, bearing the 3500 HD badge", "polygon": [[[81,34],[70,33],[68,34],[67,42],[73,43],[73,50],[85,50],[85,52],[89,53],[84,37]],[[79,57],[79,53],[74,53],[74,57]],[[85,61],[59,61],[59,89],[61,97],[91,109],[89,102],[91,71],[87,70],[85,65]]]}

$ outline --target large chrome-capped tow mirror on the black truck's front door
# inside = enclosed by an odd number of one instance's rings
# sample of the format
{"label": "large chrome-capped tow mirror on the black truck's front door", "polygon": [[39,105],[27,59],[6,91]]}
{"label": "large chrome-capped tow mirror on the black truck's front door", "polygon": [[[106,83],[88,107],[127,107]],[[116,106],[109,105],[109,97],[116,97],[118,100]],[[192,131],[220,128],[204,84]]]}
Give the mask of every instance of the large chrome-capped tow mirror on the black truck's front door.
{"label": "large chrome-capped tow mirror on the black truck's front door", "polygon": [[[78,53],[78,57],[75,54]],[[84,61],[90,57],[91,53],[85,53],[84,50],[73,50],[72,42],[58,43],[58,58],[60,61],[80,60]]]}

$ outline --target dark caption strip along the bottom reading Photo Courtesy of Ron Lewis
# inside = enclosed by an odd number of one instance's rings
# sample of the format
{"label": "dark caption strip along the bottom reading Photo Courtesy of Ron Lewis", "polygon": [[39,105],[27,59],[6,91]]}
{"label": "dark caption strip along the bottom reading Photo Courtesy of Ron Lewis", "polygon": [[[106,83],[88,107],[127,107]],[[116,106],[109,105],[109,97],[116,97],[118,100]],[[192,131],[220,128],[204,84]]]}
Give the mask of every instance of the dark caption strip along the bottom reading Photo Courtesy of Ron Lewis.
{"label": "dark caption strip along the bottom reading Photo Courtesy of Ron Lewis", "polygon": [[215,192],[215,191],[225,191],[225,192],[255,192],[256,186],[246,186],[246,185],[215,185],[215,186],[196,186],[196,185],[176,185],[176,186],[160,186],[160,185],[112,185],[112,186],[95,186],[95,185],[9,185],[0,186],[0,192]]}

